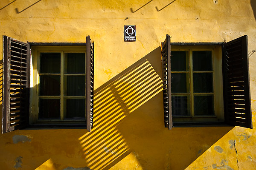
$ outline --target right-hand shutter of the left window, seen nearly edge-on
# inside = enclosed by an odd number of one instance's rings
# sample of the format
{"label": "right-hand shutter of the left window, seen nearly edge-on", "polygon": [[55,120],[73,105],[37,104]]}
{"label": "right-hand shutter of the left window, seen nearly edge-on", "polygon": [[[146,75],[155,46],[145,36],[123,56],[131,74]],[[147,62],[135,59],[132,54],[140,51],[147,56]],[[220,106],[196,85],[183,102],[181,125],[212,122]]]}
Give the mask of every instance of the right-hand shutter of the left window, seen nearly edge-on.
{"label": "right-hand shutter of the left window, seen nearly edge-on", "polygon": [[86,37],[86,123],[87,130],[93,128],[93,78],[94,78],[94,43]]}

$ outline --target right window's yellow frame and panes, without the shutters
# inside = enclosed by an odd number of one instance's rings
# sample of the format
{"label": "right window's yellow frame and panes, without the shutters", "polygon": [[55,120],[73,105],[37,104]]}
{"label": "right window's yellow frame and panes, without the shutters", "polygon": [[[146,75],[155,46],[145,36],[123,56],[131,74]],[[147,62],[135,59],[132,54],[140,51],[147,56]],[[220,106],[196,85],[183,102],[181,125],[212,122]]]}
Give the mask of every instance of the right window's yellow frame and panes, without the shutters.
{"label": "right window's yellow frame and panes, without the shutters", "polygon": [[171,54],[173,122],[223,122],[221,46],[172,45]]}

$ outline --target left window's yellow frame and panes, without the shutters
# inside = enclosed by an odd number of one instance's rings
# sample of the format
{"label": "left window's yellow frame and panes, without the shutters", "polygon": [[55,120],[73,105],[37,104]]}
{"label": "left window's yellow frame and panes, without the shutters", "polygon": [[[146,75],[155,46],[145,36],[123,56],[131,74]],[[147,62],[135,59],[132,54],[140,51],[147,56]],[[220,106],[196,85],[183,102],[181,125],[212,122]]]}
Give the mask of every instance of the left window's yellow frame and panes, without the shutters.
{"label": "left window's yellow frame and panes, without the shutters", "polygon": [[[82,124],[86,120],[86,51],[84,46],[38,46],[32,49],[30,123]],[[34,95],[34,93],[36,95]],[[50,121],[50,122],[49,122]]]}

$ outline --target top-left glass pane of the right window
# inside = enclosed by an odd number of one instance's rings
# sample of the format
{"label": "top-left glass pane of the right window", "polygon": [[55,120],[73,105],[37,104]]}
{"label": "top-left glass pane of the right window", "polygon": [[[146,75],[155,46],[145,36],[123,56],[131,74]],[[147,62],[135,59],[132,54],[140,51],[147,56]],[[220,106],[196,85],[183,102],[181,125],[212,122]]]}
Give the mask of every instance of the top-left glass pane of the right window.
{"label": "top-left glass pane of the right window", "polygon": [[171,55],[171,71],[188,71],[188,51],[172,51]]}

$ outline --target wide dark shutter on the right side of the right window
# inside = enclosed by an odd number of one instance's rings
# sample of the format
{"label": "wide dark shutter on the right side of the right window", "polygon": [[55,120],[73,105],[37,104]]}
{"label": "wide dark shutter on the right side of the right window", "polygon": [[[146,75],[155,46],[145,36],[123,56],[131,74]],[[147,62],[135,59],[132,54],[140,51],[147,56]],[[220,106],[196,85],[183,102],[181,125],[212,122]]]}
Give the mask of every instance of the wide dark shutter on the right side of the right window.
{"label": "wide dark shutter on the right side of the right window", "polygon": [[222,51],[225,122],[253,128],[247,35],[224,43]]}

